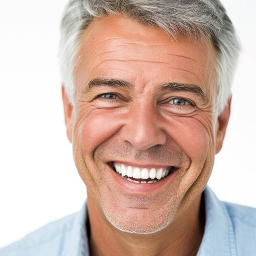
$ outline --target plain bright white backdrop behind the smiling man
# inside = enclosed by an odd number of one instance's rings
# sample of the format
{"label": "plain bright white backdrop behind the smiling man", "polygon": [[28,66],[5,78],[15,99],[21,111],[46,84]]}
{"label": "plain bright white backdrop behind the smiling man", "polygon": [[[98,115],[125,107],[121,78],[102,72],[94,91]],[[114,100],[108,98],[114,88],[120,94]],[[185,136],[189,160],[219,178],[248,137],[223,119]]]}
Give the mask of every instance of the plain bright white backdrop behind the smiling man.
{"label": "plain bright white backdrop behind the smiling man", "polygon": [[[225,142],[209,185],[256,207],[255,0],[222,0],[242,44]],[[66,0],[0,1],[0,247],[77,211],[86,188],[66,138],[58,67]]]}

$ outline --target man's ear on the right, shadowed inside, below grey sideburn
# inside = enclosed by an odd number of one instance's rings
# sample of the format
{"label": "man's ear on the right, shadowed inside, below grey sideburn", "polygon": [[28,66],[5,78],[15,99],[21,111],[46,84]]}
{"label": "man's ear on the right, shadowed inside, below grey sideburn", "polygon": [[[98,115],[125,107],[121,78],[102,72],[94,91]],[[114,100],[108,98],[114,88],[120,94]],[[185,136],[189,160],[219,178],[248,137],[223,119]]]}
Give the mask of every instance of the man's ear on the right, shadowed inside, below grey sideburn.
{"label": "man's ear on the right, shadowed inside, below grey sideburn", "polygon": [[215,154],[218,154],[222,148],[224,141],[228,120],[230,116],[231,97],[229,98],[225,108],[220,113],[216,123],[215,131]]}

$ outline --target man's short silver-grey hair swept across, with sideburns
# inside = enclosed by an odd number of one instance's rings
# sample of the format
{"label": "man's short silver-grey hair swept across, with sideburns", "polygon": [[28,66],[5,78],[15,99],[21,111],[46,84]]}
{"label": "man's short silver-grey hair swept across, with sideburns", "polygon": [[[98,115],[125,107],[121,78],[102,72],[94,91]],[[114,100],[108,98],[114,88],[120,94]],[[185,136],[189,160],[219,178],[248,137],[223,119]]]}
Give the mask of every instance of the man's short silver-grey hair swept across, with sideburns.
{"label": "man's short silver-grey hair swept across, with sideburns", "polygon": [[217,52],[216,112],[230,95],[239,43],[232,22],[219,0],[70,0],[61,22],[60,70],[70,103],[75,102],[74,68],[80,38],[95,17],[125,15],[146,26],[162,29],[172,38],[211,40]]}

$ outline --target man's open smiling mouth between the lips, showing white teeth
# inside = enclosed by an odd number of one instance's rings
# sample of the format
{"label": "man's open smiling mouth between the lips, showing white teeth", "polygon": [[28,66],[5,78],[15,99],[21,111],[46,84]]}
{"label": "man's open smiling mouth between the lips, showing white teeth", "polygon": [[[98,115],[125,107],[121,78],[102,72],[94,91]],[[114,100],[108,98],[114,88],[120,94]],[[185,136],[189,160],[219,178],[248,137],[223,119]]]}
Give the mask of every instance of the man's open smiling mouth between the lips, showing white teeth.
{"label": "man's open smiling mouth between the lips, showing white teeth", "polygon": [[138,167],[121,162],[108,162],[108,165],[122,178],[133,183],[142,184],[160,182],[178,169],[175,166]]}

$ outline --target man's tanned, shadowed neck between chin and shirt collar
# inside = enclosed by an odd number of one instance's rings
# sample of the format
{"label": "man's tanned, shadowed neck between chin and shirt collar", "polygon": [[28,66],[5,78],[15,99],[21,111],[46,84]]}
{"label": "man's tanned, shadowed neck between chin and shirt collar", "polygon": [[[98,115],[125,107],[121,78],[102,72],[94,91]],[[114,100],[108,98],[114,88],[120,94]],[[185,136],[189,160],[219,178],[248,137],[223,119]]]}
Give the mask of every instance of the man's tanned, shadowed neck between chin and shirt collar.
{"label": "man's tanned, shadowed neck between chin and shirt collar", "polygon": [[148,235],[131,234],[113,227],[88,194],[91,255],[197,255],[204,233],[204,211],[200,196],[165,229]]}

